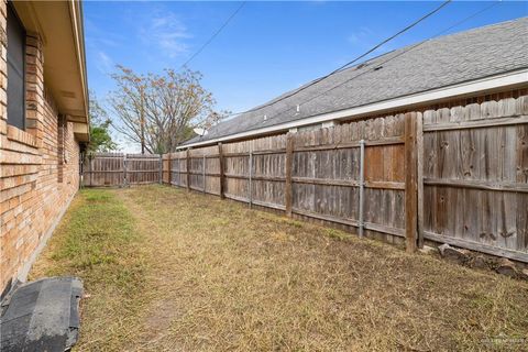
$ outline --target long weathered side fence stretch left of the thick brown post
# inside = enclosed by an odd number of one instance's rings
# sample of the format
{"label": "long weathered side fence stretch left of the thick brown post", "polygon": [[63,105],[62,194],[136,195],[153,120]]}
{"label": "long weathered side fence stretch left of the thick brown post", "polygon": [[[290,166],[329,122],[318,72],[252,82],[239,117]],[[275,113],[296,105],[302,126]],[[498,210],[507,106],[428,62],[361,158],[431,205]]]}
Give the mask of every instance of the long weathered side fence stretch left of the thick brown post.
{"label": "long weathered side fence stretch left of the thick brown post", "polygon": [[189,179],[189,189],[358,228],[362,141],[361,223],[366,232],[404,237],[403,114],[167,154],[164,180],[187,187]]}

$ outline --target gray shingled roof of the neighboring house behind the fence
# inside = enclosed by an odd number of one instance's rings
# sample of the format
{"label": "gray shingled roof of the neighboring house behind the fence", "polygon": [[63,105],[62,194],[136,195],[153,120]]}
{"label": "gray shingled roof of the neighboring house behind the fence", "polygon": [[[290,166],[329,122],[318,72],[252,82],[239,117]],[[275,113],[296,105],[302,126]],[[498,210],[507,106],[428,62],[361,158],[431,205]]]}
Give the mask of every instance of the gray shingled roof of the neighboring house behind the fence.
{"label": "gray shingled roof of the neighboring house behind the fence", "polygon": [[[310,117],[526,69],[527,47],[528,18],[425,41],[344,69],[277,101],[295,90],[286,92],[270,106],[219,123],[184,146],[240,138],[248,131],[273,133],[274,127],[284,130],[286,122],[308,122]],[[528,81],[528,73],[524,77]]]}

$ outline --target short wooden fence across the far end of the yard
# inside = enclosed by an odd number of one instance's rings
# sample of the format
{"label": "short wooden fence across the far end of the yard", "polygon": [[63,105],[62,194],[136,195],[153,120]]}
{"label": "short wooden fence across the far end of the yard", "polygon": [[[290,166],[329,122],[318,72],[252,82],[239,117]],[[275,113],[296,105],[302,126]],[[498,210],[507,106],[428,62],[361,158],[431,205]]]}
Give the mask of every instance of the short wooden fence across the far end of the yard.
{"label": "short wooden fence across the far end of the yard", "polygon": [[157,154],[95,153],[82,162],[86,187],[129,186],[162,182],[162,158]]}

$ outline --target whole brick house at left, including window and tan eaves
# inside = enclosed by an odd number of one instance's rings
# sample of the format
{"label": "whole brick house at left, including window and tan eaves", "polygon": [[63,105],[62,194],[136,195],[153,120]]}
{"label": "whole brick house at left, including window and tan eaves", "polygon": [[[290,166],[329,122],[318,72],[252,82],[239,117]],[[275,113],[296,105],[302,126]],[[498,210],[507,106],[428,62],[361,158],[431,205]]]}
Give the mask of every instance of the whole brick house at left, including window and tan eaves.
{"label": "whole brick house at left, including window and tan eaves", "polygon": [[0,293],[23,280],[79,186],[89,140],[79,1],[0,2]]}

